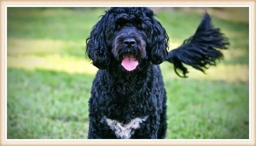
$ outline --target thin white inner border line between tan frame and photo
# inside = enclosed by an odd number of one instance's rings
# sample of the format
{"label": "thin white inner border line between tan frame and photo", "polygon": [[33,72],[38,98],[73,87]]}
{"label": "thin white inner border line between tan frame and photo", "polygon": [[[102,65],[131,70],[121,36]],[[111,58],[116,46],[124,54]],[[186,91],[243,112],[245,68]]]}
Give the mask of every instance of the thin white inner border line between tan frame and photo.
{"label": "thin white inner border line between tan frame and photo", "polygon": [[[249,7],[249,139],[7,139],[7,7]],[[251,5],[5,5],[5,141],[251,141]]]}

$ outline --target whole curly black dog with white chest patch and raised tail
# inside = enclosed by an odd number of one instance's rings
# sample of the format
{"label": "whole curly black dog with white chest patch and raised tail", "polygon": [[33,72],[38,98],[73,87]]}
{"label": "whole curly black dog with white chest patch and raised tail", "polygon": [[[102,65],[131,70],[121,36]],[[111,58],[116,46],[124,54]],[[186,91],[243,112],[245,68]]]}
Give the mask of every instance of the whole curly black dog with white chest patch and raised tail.
{"label": "whole curly black dog with white chest patch and raised tail", "polygon": [[[86,40],[86,53],[99,68],[89,100],[89,139],[164,138],[166,92],[158,64],[174,64],[186,77],[204,72],[223,57],[227,38],[206,14],[195,34],[167,52],[169,37],[149,8],[110,8]],[[182,72],[182,74],[180,74]]]}

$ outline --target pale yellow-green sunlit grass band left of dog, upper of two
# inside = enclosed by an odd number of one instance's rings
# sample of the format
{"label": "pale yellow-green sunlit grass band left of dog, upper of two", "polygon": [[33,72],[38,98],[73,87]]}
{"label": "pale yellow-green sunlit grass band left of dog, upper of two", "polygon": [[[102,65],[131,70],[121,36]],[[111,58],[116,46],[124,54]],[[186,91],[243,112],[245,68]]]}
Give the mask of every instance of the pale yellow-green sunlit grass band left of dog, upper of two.
{"label": "pale yellow-green sunlit grass band left of dog, upper of two", "polygon": [[85,56],[85,39],[81,41],[53,40],[53,39],[7,39],[7,55],[37,55],[50,54]]}

